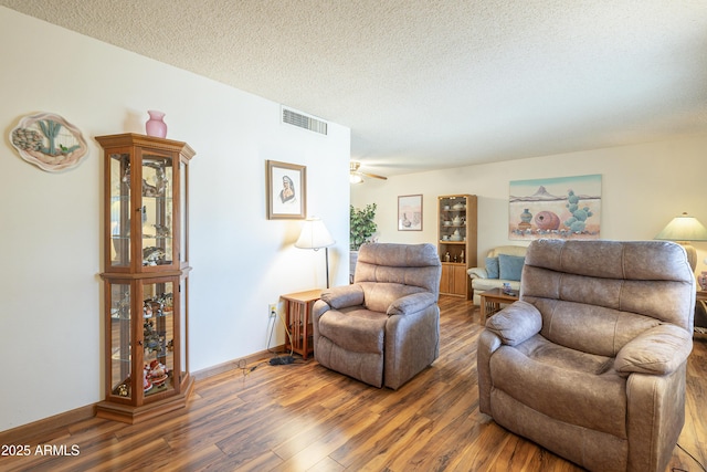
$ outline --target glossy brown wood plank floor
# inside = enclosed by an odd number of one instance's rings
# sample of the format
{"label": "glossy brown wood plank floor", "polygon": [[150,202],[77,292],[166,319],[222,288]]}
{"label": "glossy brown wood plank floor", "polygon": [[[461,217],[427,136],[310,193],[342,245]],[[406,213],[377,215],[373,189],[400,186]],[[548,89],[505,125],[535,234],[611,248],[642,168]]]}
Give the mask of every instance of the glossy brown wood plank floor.
{"label": "glossy brown wood plank floor", "polygon": [[[398,391],[315,360],[197,381],[186,410],[140,424],[89,419],[21,443],[74,457],[0,457],[2,471],[579,471],[478,411],[478,310],[442,297],[440,358]],[[252,367],[253,365],[249,366]],[[679,444],[707,464],[707,342],[689,359]],[[675,448],[668,471],[700,471]]]}

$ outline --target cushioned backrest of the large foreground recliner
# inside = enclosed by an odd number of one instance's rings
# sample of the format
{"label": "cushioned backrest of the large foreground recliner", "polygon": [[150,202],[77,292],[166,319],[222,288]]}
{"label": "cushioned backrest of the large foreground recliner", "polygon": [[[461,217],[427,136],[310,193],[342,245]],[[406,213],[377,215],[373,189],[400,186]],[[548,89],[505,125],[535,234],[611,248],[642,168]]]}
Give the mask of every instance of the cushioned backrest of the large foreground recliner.
{"label": "cushioned backrest of the large foreground recliner", "polygon": [[520,298],[540,311],[549,340],[614,356],[662,323],[692,331],[694,286],[685,250],[673,242],[537,240]]}

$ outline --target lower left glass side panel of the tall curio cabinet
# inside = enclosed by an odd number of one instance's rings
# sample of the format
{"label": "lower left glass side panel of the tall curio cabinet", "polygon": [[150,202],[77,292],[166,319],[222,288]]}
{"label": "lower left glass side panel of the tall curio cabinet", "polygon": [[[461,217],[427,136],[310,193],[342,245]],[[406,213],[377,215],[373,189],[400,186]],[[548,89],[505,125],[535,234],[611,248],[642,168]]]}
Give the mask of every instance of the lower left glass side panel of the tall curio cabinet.
{"label": "lower left glass side panel of the tall curio cabinet", "polygon": [[110,395],[131,398],[131,339],[130,339],[130,284],[107,283],[106,291],[109,306],[108,346],[110,358],[106,374],[109,378]]}

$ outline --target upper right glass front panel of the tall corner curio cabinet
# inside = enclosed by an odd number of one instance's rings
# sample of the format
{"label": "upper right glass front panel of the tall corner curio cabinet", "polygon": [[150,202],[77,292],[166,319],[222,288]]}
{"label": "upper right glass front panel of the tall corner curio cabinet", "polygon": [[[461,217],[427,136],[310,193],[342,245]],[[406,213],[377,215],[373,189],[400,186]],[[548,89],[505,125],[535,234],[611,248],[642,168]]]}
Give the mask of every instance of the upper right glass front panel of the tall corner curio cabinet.
{"label": "upper right glass front panel of the tall corner curio cabinet", "polygon": [[173,245],[173,158],[144,150],[141,154],[141,258],[143,266],[171,265]]}

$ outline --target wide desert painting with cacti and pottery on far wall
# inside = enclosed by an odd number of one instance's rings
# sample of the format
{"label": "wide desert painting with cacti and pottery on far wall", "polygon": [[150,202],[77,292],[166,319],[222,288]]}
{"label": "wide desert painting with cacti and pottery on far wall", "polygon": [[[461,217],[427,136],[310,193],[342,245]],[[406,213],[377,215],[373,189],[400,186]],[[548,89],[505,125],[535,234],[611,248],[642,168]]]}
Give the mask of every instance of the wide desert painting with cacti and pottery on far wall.
{"label": "wide desert painting with cacti and pottery on far wall", "polygon": [[509,185],[508,239],[599,239],[601,175]]}

